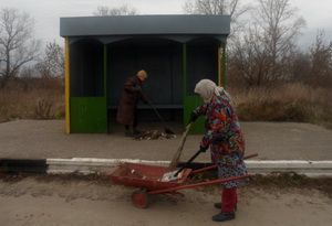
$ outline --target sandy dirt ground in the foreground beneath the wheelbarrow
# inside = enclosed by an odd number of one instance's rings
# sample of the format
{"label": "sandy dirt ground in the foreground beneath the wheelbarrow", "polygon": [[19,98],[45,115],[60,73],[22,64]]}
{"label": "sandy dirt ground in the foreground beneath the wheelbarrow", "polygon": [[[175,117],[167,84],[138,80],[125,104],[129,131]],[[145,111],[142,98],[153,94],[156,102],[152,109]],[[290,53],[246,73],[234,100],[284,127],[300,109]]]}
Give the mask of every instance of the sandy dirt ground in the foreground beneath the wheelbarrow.
{"label": "sandy dirt ground in the foreground beneath the wheelbarrow", "polygon": [[[271,185],[271,184],[270,184]],[[222,225],[326,226],[331,195],[315,189],[249,185],[240,190],[237,218]],[[0,180],[0,222],[17,225],[218,225],[218,187],[185,190],[184,197],[154,196],[147,209],[132,205],[133,189],[105,180],[29,176]],[[220,225],[220,224],[219,224]]]}

